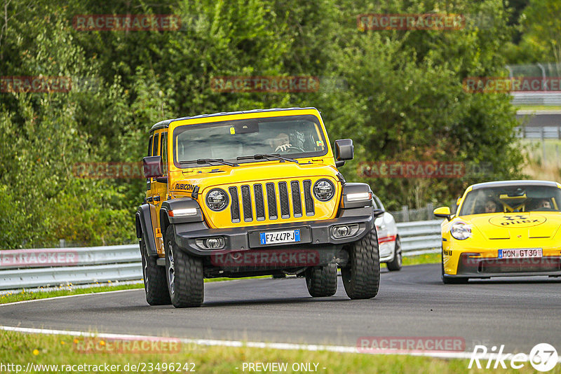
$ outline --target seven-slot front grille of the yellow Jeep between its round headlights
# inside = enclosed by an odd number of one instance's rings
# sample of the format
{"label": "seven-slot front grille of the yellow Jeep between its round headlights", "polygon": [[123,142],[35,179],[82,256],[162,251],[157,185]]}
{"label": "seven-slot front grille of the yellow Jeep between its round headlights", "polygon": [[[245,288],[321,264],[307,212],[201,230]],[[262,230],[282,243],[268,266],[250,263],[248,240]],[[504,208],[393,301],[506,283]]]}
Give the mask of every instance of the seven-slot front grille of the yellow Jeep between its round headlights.
{"label": "seven-slot front grille of the yellow Jeep between its round headlights", "polygon": [[[306,216],[313,216],[313,198],[311,196],[311,181],[309,179],[302,182],[302,188],[300,181],[290,181],[290,196],[286,181],[265,183],[265,191],[263,191],[261,183],[255,183],[252,186],[245,184],[241,186],[241,204],[238,197],[238,188],[231,186],[228,188],[231,198],[231,221],[233,223],[240,222],[240,206],[243,209],[243,220],[245,222],[253,221],[254,212],[257,221],[265,221],[266,219],[269,219],[269,221],[276,220],[278,219],[279,208],[281,219],[290,218],[291,212],[294,218],[302,217],[302,189],[304,190]],[[251,190],[253,190],[253,197]],[[277,205],[277,200],[279,200],[279,205]],[[266,211],[265,207],[267,208]]]}

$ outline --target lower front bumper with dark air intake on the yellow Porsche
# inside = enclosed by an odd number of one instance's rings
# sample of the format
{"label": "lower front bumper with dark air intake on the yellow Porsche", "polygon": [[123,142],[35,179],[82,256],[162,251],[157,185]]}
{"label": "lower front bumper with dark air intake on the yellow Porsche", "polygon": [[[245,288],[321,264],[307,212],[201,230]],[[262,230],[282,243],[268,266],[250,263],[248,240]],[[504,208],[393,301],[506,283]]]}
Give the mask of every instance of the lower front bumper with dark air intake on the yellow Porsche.
{"label": "lower front bumper with dark air intake on the yellow Porsche", "polygon": [[476,257],[463,253],[459,256],[456,275],[445,277],[517,277],[531,275],[561,275],[561,256],[541,258]]}

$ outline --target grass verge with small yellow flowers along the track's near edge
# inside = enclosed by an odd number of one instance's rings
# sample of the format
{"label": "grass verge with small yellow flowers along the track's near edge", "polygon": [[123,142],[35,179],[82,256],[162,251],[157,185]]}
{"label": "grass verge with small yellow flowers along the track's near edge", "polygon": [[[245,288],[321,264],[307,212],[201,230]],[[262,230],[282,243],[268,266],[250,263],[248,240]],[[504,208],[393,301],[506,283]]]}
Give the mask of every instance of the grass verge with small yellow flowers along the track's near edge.
{"label": "grass verge with small yellow flowers along the track's near edge", "polygon": [[[121,341],[122,342],[122,341]],[[91,353],[81,349],[92,347]],[[180,373],[247,373],[246,363],[286,363],[283,373],[304,373],[300,363],[309,364],[317,373],[531,373],[528,363],[521,370],[468,370],[465,359],[434,359],[419,356],[371,355],[334,352],[310,352],[305,350],[285,350],[253,347],[219,347],[194,344],[181,344],[173,352],[159,349],[139,349],[136,352],[109,352],[108,349],[119,347],[116,342],[106,342],[100,338],[76,338],[63,335],[39,335],[15,333],[11,331],[0,334],[0,362],[4,365],[21,365],[24,371],[27,365],[33,365],[28,373],[56,372],[100,372],[109,373],[102,366],[114,365],[111,373],[180,372]],[[121,345],[120,347],[124,347]],[[134,347],[134,345],[132,346]],[[138,347],[138,345],[137,345]],[[170,364],[173,363],[173,368]],[[185,366],[186,363],[189,363]],[[126,365],[128,364],[128,367]],[[314,364],[317,364],[315,366]],[[41,368],[37,365],[42,365]],[[51,365],[50,368],[47,367]],[[55,368],[52,365],[58,365]],[[90,367],[78,365],[90,365]],[[97,368],[93,368],[97,365]],[[132,368],[135,365],[136,368]],[[140,368],[138,367],[140,365]],[[299,367],[297,367],[297,365]],[[64,367],[63,367],[64,366]],[[165,367],[165,369],[164,369]],[[180,370],[177,370],[181,367]],[[101,370],[100,370],[101,368]],[[128,370],[127,370],[128,368]],[[149,370],[152,368],[152,370]],[[187,368],[192,371],[184,370]],[[560,373],[560,366],[550,373]],[[62,369],[62,370],[61,370]],[[70,370],[67,370],[70,369]],[[74,369],[74,370],[72,370]],[[80,370],[81,369],[81,370]],[[143,370],[144,369],[144,370]],[[299,370],[295,370],[299,369]],[[6,368],[5,368],[6,370]],[[6,370],[8,371],[8,370]],[[15,370],[13,370],[15,372]],[[253,370],[255,371],[255,370]],[[271,370],[263,370],[271,372]]]}

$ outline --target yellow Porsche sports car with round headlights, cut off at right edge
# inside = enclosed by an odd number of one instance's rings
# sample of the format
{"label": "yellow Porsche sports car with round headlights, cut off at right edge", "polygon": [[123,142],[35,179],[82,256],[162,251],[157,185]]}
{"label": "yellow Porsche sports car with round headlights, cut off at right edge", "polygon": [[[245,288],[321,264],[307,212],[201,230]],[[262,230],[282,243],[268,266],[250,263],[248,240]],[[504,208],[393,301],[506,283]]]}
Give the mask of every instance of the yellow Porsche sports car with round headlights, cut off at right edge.
{"label": "yellow Porsche sports car with round headlights, cut off at right edge", "polygon": [[561,184],[495,181],[469,186],[442,222],[442,282],[561,276]]}

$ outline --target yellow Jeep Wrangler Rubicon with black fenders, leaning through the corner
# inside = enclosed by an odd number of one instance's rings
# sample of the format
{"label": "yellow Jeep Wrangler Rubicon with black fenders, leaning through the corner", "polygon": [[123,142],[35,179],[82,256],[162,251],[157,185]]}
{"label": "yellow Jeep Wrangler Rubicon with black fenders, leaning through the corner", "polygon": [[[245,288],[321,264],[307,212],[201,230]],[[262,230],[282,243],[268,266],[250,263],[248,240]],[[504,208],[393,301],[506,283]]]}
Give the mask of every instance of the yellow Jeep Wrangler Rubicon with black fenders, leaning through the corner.
{"label": "yellow Jeep Wrangler Rubicon with black fenders, leaning through the corner", "polygon": [[297,275],[332,296],[337,267],[349,298],[376,296],[381,212],[337,170],[353,142],[332,151],[317,109],[163,120],[149,136],[135,223],[150,305],[201,305],[205,277]]}

